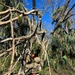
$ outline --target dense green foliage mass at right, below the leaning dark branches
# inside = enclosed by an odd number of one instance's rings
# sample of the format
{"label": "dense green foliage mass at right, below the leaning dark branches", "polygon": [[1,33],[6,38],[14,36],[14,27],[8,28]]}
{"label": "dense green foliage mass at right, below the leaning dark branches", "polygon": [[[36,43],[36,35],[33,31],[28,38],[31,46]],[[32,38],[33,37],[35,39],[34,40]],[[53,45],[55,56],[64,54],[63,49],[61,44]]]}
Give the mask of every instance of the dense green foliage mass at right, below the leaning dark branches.
{"label": "dense green foliage mass at right, below the leaning dark branches", "polygon": [[71,30],[69,34],[66,34],[64,29],[58,29],[51,36],[48,50],[50,50],[50,64],[54,69],[60,70],[68,65],[69,59],[75,59],[75,35],[73,32],[74,30]]}

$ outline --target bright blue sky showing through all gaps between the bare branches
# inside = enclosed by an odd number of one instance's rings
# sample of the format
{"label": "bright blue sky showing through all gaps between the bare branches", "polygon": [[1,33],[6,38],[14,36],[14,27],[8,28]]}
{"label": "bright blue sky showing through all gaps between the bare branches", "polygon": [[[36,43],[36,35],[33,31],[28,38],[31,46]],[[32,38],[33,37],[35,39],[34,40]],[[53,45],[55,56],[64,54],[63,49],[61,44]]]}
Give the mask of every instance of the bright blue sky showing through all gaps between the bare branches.
{"label": "bright blue sky showing through all gaps between the bare branches", "polygon": [[[59,1],[59,4],[55,5],[55,7],[63,5],[66,0],[58,0],[58,1]],[[32,0],[27,0],[27,2],[28,2],[27,8],[29,10],[31,10],[32,9]],[[75,3],[75,0],[71,0],[69,7],[71,7],[74,3]],[[41,7],[40,5],[42,6],[42,0],[36,0],[36,8],[37,9],[40,9],[40,7]],[[74,8],[74,10],[75,10],[75,8]],[[48,13],[43,14],[42,21],[43,21],[44,28],[47,31],[51,32],[54,28],[54,25],[51,24],[52,19]]]}

